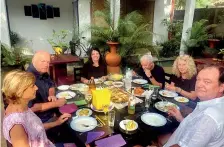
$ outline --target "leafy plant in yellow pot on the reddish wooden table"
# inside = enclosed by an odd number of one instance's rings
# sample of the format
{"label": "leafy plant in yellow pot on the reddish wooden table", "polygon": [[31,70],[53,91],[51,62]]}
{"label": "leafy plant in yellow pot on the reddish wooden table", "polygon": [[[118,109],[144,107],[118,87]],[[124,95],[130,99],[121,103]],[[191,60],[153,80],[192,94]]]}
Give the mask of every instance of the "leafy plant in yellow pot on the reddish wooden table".
{"label": "leafy plant in yellow pot on the reddish wooden table", "polygon": [[68,30],[60,30],[58,32],[53,30],[52,37],[47,39],[56,55],[63,54],[69,48],[67,39],[69,33]]}

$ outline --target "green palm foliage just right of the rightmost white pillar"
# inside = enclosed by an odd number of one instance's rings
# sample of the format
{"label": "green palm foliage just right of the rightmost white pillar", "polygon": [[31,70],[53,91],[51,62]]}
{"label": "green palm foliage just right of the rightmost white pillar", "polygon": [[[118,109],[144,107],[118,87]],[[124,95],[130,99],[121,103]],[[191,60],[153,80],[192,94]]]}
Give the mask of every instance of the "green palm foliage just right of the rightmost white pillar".
{"label": "green palm foliage just right of the rightmost white pillar", "polygon": [[195,48],[204,49],[208,39],[208,33],[206,28],[207,20],[202,19],[193,23],[192,28],[188,29],[187,33],[190,33],[190,38],[185,42],[188,49],[188,53],[193,55]]}

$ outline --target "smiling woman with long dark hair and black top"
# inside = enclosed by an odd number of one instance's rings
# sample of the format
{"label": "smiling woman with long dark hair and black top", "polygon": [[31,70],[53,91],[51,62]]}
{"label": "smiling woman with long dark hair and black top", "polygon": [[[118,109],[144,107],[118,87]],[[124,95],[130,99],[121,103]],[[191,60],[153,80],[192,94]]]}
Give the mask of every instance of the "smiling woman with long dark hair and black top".
{"label": "smiling woman with long dark hair and black top", "polygon": [[82,72],[83,77],[81,77],[81,81],[85,84],[89,82],[91,77],[105,78],[107,75],[107,66],[98,48],[93,48],[90,51],[89,60],[84,64]]}

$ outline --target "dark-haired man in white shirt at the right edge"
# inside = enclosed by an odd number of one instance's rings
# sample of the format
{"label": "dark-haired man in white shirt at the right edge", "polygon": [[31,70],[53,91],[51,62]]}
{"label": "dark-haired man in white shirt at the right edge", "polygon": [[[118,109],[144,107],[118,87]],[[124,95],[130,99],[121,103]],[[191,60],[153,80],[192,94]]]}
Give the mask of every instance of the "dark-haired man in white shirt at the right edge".
{"label": "dark-haired man in white shirt at the right edge", "polygon": [[201,102],[186,118],[169,110],[181,123],[164,147],[224,147],[224,68],[202,69],[195,91]]}

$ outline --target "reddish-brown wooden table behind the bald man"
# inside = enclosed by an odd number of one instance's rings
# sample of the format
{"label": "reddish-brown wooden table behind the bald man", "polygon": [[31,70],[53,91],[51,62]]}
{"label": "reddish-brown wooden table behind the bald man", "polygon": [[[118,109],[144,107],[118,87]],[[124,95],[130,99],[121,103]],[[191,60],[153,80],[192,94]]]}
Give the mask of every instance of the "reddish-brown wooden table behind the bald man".
{"label": "reddish-brown wooden table behind the bald man", "polygon": [[61,54],[58,56],[51,55],[50,75],[51,78],[58,84],[58,79],[67,77],[67,63],[80,62],[78,56],[71,54]]}

